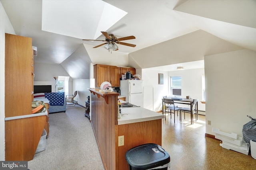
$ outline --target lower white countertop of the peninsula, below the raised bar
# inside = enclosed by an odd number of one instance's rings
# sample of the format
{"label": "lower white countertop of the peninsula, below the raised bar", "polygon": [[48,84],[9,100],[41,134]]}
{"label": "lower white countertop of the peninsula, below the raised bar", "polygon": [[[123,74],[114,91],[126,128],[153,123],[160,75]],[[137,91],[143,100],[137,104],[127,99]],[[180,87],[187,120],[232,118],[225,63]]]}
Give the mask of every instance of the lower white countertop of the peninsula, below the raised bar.
{"label": "lower white countertop of the peninsula, below the raised bar", "polygon": [[164,115],[145,109],[143,107],[129,107],[121,109],[122,117],[118,119],[118,125],[124,125],[128,123],[137,123],[142,121],[151,121],[164,118]]}

